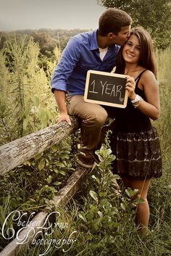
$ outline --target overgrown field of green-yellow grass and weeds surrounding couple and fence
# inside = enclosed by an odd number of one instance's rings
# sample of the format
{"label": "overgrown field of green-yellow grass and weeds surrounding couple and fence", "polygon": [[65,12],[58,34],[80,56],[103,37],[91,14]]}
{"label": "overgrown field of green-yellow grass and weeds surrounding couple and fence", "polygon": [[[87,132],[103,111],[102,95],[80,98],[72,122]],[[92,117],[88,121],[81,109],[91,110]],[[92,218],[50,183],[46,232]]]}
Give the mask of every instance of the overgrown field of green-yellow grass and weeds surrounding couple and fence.
{"label": "overgrown field of green-yellow grass and weeds surrounding couple and fence", "polygon": [[[46,70],[41,66],[38,51],[32,40],[22,38],[19,42],[9,40],[0,53],[1,144],[55,123],[57,110],[49,80],[59,51],[56,49],[54,59],[46,63]],[[106,140],[99,151],[102,163],[88,176],[67,207],[54,209],[57,213],[49,218],[46,232],[18,256],[171,255],[170,58],[170,49],[157,52],[162,112],[154,125],[162,146],[163,176],[152,180],[149,189],[148,235],[140,235],[134,223],[137,202],[131,197],[135,191],[125,190],[119,177],[110,172],[114,156]],[[28,212],[28,215],[40,211],[75,170],[76,140],[77,134],[1,177],[0,249],[12,240],[2,236],[7,215],[13,210]],[[115,178],[120,187],[114,182]],[[58,225],[54,227],[51,223]],[[9,221],[7,228],[17,230],[17,222]]]}

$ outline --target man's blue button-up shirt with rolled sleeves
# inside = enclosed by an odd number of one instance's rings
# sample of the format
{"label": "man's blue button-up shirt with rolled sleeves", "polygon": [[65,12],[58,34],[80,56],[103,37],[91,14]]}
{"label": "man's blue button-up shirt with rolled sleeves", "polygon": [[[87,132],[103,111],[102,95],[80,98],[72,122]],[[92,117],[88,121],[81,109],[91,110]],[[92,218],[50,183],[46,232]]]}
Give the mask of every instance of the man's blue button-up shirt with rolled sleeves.
{"label": "man's blue button-up shirt with rolled sleeves", "polygon": [[120,46],[109,46],[101,60],[96,33],[97,30],[80,33],[68,41],[51,78],[52,91],[56,89],[67,91],[68,94],[83,95],[88,70],[112,71]]}

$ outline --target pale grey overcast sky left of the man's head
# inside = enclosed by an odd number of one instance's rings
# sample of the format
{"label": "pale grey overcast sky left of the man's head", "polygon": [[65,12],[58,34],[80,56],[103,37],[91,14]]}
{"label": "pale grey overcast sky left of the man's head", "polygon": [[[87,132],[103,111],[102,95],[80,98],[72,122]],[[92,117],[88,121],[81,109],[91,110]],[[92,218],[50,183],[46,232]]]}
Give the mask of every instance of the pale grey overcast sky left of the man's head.
{"label": "pale grey overcast sky left of the man's head", "polygon": [[0,31],[96,29],[104,10],[96,0],[0,0]]}

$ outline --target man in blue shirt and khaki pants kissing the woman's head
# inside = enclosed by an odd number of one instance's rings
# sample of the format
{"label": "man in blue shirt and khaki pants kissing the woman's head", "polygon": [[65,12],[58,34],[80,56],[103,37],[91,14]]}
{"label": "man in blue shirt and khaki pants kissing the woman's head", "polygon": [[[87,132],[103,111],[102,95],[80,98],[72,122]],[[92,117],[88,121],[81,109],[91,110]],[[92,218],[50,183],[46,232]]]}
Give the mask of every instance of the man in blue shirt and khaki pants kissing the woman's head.
{"label": "man in blue shirt and khaki pants kissing the woman's head", "polygon": [[81,120],[78,164],[86,168],[93,166],[101,127],[108,116],[101,105],[84,102],[86,74],[88,70],[112,71],[117,52],[130,35],[131,22],[126,12],[107,9],[99,18],[98,30],[70,39],[51,78],[51,90],[59,108],[57,123],[71,124],[69,115]]}

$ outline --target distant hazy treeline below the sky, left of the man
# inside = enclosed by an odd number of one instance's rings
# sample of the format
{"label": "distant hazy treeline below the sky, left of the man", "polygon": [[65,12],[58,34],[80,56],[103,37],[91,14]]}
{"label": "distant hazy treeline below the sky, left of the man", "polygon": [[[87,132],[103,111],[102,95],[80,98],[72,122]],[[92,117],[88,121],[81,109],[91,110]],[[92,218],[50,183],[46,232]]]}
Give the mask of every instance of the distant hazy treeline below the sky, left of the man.
{"label": "distant hazy treeline below the sky, left of the man", "polygon": [[0,31],[0,49],[4,47],[5,41],[11,36],[15,34],[15,36],[33,36],[33,39],[36,43],[39,44],[41,49],[41,54],[45,55],[46,57],[51,57],[53,54],[55,46],[59,48],[60,51],[64,49],[67,44],[67,41],[78,33],[82,33],[88,30],[80,30],[80,29],[73,29],[73,30],[62,30],[62,29],[48,29],[48,28],[41,28],[38,30],[14,30],[10,32]]}

